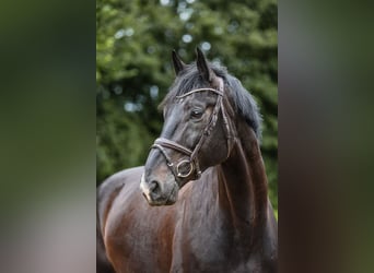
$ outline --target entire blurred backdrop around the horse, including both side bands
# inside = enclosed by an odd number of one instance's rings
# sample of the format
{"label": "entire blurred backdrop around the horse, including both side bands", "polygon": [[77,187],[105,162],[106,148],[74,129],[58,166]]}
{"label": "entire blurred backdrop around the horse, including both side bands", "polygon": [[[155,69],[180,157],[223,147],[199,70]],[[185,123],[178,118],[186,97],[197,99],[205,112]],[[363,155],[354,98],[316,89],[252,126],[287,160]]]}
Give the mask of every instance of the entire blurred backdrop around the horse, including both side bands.
{"label": "entire blurred backdrop around the horse, including both side bands", "polygon": [[95,272],[95,186],[143,164],[171,50],[196,46],[261,106],[280,272],[374,272],[372,10],[278,5],[278,131],[277,3],[2,1],[0,272]]}

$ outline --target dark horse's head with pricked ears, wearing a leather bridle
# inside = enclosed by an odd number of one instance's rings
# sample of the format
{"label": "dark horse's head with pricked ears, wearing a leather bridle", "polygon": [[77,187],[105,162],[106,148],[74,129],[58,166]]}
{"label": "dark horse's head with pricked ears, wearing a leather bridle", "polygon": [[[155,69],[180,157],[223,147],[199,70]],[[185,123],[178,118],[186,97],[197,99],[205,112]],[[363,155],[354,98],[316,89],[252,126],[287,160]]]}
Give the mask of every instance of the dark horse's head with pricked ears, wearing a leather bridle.
{"label": "dark horse's head with pricked ears, wearing a leather bridle", "polygon": [[224,81],[197,49],[196,64],[173,51],[176,79],[163,102],[164,127],[152,145],[140,188],[151,205],[176,202],[179,189],[208,167],[227,158],[232,147]]}

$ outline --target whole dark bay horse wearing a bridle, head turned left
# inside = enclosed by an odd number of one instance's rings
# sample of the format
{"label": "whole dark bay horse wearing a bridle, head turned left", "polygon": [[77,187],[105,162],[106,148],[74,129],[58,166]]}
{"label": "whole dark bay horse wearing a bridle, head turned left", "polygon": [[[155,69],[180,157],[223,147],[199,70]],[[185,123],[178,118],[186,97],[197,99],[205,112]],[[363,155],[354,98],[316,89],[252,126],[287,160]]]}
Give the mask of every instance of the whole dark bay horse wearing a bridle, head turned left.
{"label": "whole dark bay horse wearing a bridle, head turned left", "polygon": [[97,272],[277,272],[257,105],[199,49],[173,63],[145,166],[97,190]]}

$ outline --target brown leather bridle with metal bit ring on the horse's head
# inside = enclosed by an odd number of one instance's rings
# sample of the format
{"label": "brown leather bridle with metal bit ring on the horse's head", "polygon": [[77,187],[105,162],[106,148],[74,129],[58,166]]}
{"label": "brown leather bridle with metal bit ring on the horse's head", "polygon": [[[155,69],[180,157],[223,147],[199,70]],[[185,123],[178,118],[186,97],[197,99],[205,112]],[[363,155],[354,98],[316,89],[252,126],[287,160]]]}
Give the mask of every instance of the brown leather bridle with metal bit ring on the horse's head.
{"label": "brown leather bridle with metal bit ring on the horse's head", "polygon": [[[210,120],[209,120],[207,127],[203,129],[202,134],[199,139],[199,142],[196,144],[194,151],[176,143],[175,141],[167,140],[164,138],[156,139],[154,141],[153,145],[151,146],[151,149],[160,150],[160,152],[163,154],[163,156],[166,159],[166,164],[167,164],[168,168],[172,170],[176,180],[180,180],[180,178],[186,178],[186,177],[190,176],[194,170],[196,173],[196,179],[200,178],[201,170],[200,170],[200,165],[199,165],[199,161],[197,158],[197,155],[198,155],[203,142],[210,135],[211,131],[215,127],[215,123],[218,120],[218,114],[220,112],[220,110],[222,112],[222,119],[223,119],[224,128],[226,131],[226,138],[227,138],[227,157],[230,155],[230,147],[231,147],[230,141],[231,141],[232,136],[230,135],[229,120],[227,120],[226,111],[225,111],[225,108],[223,105],[223,96],[224,96],[223,80],[221,78],[218,78],[218,80],[220,82],[218,90],[209,88],[209,87],[197,88],[197,90],[189,91],[189,92],[176,97],[177,99],[183,99],[183,98],[185,98],[191,94],[195,94],[198,92],[203,92],[203,91],[210,91],[210,92],[213,92],[214,94],[218,95],[213,111],[210,116]],[[177,151],[184,155],[187,155],[189,158],[188,159],[182,159],[177,163],[174,163],[174,162],[172,162],[171,157],[168,156],[165,147],[175,150],[175,151]],[[187,167],[187,171],[184,173],[182,169],[183,167]]]}

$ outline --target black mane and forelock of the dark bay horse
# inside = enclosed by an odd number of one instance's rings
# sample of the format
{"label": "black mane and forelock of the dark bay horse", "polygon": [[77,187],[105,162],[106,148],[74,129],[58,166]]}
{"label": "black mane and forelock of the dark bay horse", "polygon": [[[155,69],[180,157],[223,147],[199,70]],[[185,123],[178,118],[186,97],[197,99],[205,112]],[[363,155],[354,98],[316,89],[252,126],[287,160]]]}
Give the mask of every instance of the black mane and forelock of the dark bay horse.
{"label": "black mane and forelock of the dark bay horse", "polygon": [[[254,129],[257,139],[260,139],[261,116],[253,96],[243,87],[242,83],[235,76],[229,74],[225,67],[213,63],[209,63],[209,66],[218,76],[223,79],[225,85],[230,88],[230,95],[234,102],[235,111]],[[187,64],[175,79],[167,95],[161,103],[160,108],[172,103],[176,96],[180,96],[191,90],[202,88],[204,86],[207,86],[207,83],[199,74],[196,62]]]}

